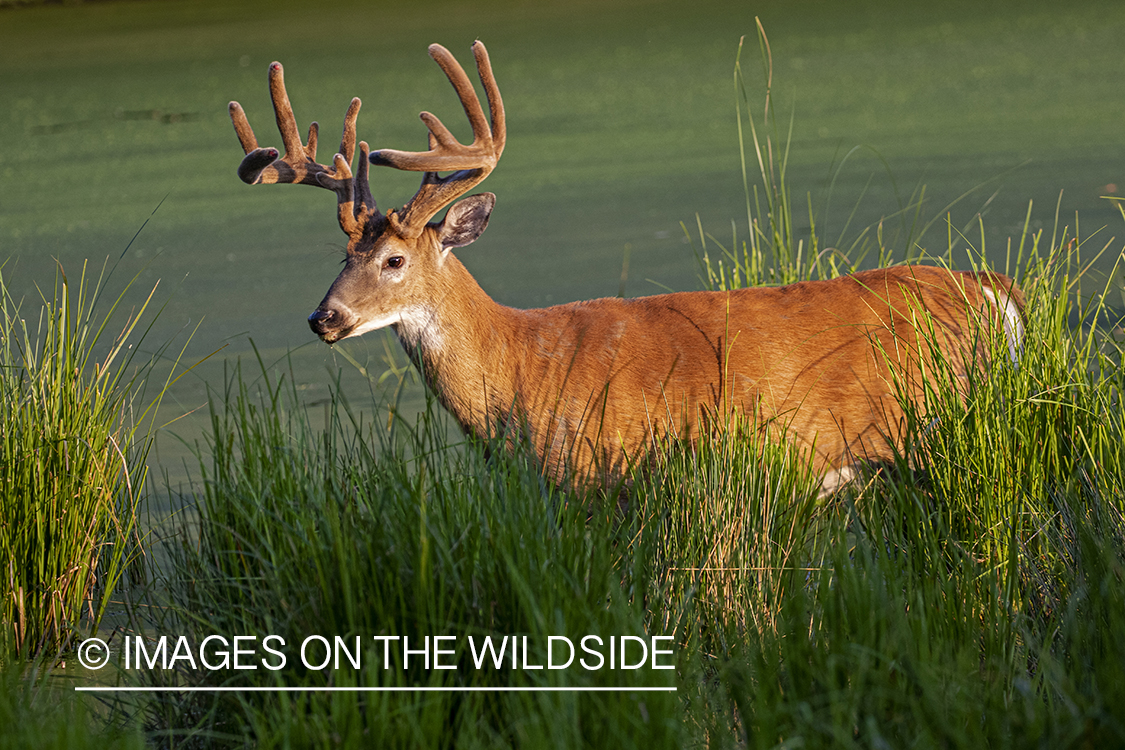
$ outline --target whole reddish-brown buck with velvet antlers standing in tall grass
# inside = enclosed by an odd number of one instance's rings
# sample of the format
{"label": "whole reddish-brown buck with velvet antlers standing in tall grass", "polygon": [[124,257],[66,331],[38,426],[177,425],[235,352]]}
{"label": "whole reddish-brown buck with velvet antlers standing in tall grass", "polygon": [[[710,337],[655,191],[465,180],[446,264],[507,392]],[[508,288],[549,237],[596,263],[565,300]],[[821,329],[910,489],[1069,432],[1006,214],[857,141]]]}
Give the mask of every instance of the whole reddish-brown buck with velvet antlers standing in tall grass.
{"label": "whole reddish-brown buck with velvet antlers standing in tall grass", "polygon": [[[953,363],[958,383],[989,365],[981,343],[988,335],[1002,335],[1018,359],[1024,298],[1010,278],[989,271],[898,265],[783,287],[540,309],[495,302],[452,252],[488,225],[495,195],[462,196],[496,168],[506,139],[484,44],[476,42],[472,55],[488,117],[453,55],[430,46],[472,142],[461,144],[423,111],[428,151],[370,151],[360,142],[354,174],[360,100],[348,107],[332,163],[321,164],[318,126],[302,143],[282,66],[272,63],[269,89],[285,154],[260,147],[232,101],[245,154],[238,177],[336,193],[348,245],[343,270],[308,316],[322,341],[389,327],[466,433],[510,446],[518,436],[549,480],[612,491],[662,444],[696,441],[741,414],[791,441],[811,461],[820,494],[830,494],[902,450],[903,399],[921,403],[936,359]],[[422,172],[421,187],[384,214],[369,164]]]}

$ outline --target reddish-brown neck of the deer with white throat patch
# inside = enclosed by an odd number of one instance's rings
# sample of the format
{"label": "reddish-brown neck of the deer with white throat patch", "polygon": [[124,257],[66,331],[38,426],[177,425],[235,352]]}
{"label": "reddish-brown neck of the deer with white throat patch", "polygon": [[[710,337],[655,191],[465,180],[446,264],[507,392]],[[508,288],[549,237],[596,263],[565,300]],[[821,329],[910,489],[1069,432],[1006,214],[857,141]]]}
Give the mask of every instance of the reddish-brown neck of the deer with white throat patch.
{"label": "reddish-brown neck of the deer with white throat patch", "polygon": [[450,254],[425,307],[395,324],[395,333],[426,385],[457,421],[478,435],[507,423],[516,399],[510,343],[519,310],[497,305]]}

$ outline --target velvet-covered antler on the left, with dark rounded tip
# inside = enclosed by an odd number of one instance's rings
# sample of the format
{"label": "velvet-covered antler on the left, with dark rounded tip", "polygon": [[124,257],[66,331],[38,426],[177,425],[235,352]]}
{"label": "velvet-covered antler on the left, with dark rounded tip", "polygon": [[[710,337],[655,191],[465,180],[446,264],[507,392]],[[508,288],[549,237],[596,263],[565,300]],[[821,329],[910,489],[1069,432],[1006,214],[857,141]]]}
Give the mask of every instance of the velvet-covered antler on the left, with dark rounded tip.
{"label": "velvet-covered antler on the left, with dark rounded tip", "polygon": [[258,138],[250,127],[246,114],[237,101],[231,102],[231,121],[242,143],[246,156],[238,165],[238,177],[248,184],[271,184],[289,182],[312,184],[327,188],[336,193],[336,210],[340,228],[350,237],[358,240],[363,234],[363,227],[376,216],[381,216],[371,198],[368,183],[368,145],[360,142],[359,173],[354,177],[351,161],[356,155],[356,118],[359,116],[360,100],[352,99],[344,115],[344,132],[340,138],[340,151],[332,159],[332,166],[325,166],[316,161],[316,139],[318,126],[313,123],[308,128],[308,143],[302,144],[297,130],[297,119],[285,90],[285,74],[281,63],[270,64],[270,98],[273,100],[273,112],[277,117],[281,143],[285,145],[285,156],[278,159],[277,148],[261,148]]}

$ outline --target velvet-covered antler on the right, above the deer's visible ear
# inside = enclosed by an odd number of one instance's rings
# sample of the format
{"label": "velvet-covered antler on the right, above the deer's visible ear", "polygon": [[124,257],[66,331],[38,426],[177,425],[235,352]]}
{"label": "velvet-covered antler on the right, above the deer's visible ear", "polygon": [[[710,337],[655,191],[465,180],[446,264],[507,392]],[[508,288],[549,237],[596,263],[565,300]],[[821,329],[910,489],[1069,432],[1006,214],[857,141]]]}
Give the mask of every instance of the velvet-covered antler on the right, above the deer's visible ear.
{"label": "velvet-covered antler on the right, above the deer's visible ear", "polygon": [[[425,172],[422,187],[403,208],[392,211],[388,216],[396,231],[404,237],[416,237],[422,233],[426,222],[442,208],[453,202],[474,187],[480,183],[496,166],[504,153],[506,130],[504,127],[504,102],[500,97],[500,88],[493,76],[492,64],[488,62],[488,51],[480,42],[472,45],[472,55],[477,62],[477,73],[488,98],[490,123],[485,119],[484,110],[472,83],[457,60],[440,44],[430,45],[430,56],[436,61],[457,90],[461,107],[472,125],[472,143],[464,145],[453,137],[444,125],[430,112],[422,112],[422,121],[430,129],[430,151],[411,152],[382,148],[371,153],[372,164],[393,166],[398,170]],[[249,156],[248,156],[249,159]],[[457,170],[447,177],[438,172]]]}

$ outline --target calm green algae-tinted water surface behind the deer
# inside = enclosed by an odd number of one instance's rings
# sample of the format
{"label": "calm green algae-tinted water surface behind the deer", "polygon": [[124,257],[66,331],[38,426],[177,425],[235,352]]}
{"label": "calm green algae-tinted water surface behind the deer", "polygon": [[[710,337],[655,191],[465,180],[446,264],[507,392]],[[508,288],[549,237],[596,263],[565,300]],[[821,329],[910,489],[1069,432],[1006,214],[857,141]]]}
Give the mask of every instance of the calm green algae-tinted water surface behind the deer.
{"label": "calm green algae-tinted water surface behind the deer", "polygon": [[[498,196],[488,232],[458,253],[482,286],[520,307],[614,295],[628,249],[627,295],[699,288],[681,223],[698,214],[721,237],[732,220],[745,227],[732,70],[748,35],[759,100],[756,16],[773,47],[776,107],[793,116],[790,183],[795,196],[811,193],[828,243],[893,214],[921,183],[926,217],[979,187],[953,224],[983,208],[987,252],[1001,268],[1028,201],[1033,226],[1050,228],[1060,191],[1065,222],[1078,211],[1084,234],[1120,234],[1100,196],[1125,192],[1125,3],[480,4],[183,0],[0,11],[6,279],[34,295],[34,284],[50,284],[54,259],[68,273],[83,259],[117,260],[147,220],[115,282],[160,282],[166,306],[152,342],[184,341],[198,325],[184,361],[220,350],[177,383],[166,418],[201,407],[205,383],[219,385],[224,362],[246,356],[251,340],[267,362],[291,352],[310,401],[338,368],[363,390],[305,323],[339,268],[333,197],[238,181],[226,105],[240,100],[259,138],[278,145],[266,69],[280,60],[302,126],[322,124],[323,161],[353,96],[364,101],[359,136],[372,147],[421,147],[422,109],[464,137],[425,47],[441,42],[467,60],[480,38],[508,124],[504,159],[484,186]],[[413,193],[416,175],[377,170],[372,186],[386,209]],[[970,236],[979,246],[980,231]],[[944,247],[945,232],[922,244]],[[344,346],[380,372],[385,343],[369,334]],[[196,440],[205,412],[168,432]],[[173,479],[184,455],[171,435],[161,439]]]}

